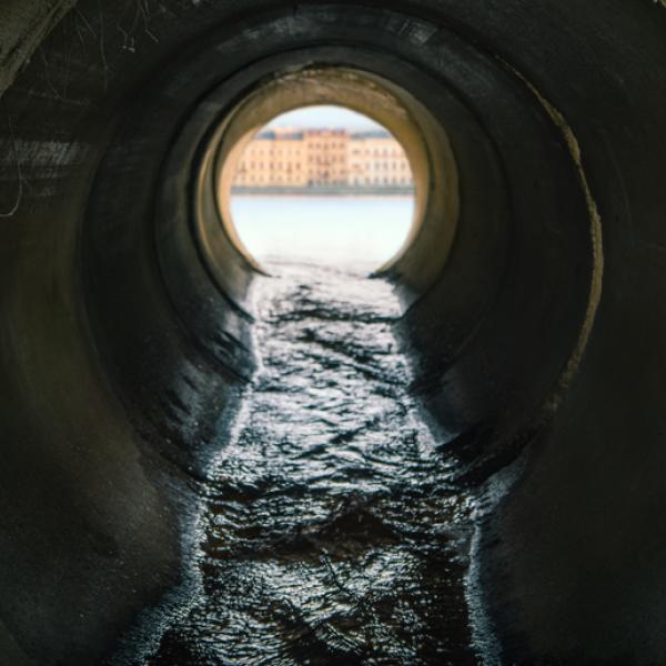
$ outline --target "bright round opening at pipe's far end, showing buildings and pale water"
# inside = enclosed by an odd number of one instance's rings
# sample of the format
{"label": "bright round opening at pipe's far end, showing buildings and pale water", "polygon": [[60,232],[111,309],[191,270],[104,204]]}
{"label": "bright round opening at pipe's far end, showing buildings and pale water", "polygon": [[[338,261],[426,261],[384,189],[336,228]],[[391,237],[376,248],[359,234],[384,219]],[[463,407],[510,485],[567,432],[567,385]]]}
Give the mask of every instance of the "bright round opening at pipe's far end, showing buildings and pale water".
{"label": "bright round opening at pipe's far end, showing buildings and pale water", "polygon": [[370,273],[414,224],[410,160],[382,124],[336,105],[270,121],[246,144],[230,192],[239,250],[266,268],[314,262]]}

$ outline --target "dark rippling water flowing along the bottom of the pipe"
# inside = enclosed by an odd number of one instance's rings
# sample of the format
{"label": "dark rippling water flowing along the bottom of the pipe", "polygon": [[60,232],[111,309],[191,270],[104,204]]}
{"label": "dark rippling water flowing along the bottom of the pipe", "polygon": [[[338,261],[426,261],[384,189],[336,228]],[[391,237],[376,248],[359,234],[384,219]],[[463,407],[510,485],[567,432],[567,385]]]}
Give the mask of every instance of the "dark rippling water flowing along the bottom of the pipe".
{"label": "dark rippling water flowing along the bottom of the pipe", "polygon": [[201,593],[148,663],[474,664],[471,506],[408,393],[396,297],[280,271],[256,287],[261,364],[212,473]]}

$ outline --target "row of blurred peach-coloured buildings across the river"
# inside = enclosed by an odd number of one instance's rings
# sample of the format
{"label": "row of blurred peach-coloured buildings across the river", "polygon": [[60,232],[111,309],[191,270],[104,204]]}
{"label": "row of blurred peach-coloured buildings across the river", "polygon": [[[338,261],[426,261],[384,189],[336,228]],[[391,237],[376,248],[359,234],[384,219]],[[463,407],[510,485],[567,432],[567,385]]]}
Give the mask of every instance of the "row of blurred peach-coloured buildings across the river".
{"label": "row of blurred peach-coloured buildings across the river", "polygon": [[385,131],[279,129],[254,138],[234,188],[408,189],[412,170],[402,145]]}

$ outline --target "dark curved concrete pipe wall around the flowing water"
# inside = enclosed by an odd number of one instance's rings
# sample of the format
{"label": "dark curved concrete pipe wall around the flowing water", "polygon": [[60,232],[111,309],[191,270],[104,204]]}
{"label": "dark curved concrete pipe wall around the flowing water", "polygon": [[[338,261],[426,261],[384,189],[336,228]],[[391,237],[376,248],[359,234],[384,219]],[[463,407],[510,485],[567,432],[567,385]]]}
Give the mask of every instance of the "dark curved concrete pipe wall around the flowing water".
{"label": "dark curved concrete pipe wall around the flowing water", "polygon": [[252,371],[251,266],[192,232],[218,214],[204,147],[243,72],[327,44],[455,157],[445,265],[435,220],[390,274],[414,390],[481,497],[485,658],[660,662],[662,4],[72,6],[0,9],[0,660],[100,662],[178,582],[213,421]]}

